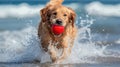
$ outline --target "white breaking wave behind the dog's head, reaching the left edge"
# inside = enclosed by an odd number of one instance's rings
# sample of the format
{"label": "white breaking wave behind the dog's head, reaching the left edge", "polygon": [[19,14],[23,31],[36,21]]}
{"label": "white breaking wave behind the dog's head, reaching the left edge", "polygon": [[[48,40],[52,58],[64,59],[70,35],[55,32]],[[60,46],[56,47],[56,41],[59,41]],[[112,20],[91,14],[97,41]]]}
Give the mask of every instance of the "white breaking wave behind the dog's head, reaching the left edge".
{"label": "white breaking wave behind the dog's head, reaching the left edge", "polygon": [[[65,6],[72,7],[77,9],[78,4],[71,3],[65,4]],[[22,3],[19,5],[0,5],[0,18],[24,18],[24,17],[33,17],[39,15],[40,9],[45,7],[45,5],[29,5],[27,3]]]}

